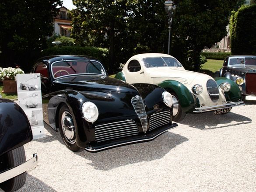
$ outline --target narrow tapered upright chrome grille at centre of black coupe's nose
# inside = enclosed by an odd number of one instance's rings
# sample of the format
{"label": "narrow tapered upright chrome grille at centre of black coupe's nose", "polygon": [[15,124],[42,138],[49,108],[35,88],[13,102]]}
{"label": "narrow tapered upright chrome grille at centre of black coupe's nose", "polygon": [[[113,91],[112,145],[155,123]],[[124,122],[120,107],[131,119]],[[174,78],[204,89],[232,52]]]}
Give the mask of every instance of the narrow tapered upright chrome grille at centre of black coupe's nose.
{"label": "narrow tapered upright chrome grille at centre of black coupe's nose", "polygon": [[143,100],[139,95],[136,95],[131,99],[131,102],[132,102],[133,108],[135,109],[135,112],[137,113],[140,119],[142,129],[144,133],[146,133],[147,132],[147,113],[144,107]]}

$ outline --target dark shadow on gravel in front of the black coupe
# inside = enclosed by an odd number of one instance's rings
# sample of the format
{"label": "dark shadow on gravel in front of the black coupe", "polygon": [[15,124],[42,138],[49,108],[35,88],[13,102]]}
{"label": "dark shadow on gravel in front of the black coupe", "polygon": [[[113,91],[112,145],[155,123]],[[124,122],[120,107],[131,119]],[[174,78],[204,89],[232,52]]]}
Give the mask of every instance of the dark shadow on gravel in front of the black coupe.
{"label": "dark shadow on gravel in front of the black coupe", "polygon": [[90,160],[89,165],[95,167],[95,169],[108,171],[129,164],[161,159],[172,148],[185,141],[188,141],[188,139],[184,136],[166,132],[149,142],[116,147],[98,153],[83,151],[77,153],[77,155]]}

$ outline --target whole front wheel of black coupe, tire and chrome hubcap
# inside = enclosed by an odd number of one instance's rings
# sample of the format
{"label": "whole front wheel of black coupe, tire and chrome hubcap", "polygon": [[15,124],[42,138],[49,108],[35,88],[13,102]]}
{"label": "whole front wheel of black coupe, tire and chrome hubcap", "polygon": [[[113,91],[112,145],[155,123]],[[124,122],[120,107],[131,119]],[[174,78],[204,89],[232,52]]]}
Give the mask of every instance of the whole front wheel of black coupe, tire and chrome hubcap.
{"label": "whole front wheel of black coupe, tire and chrome hubcap", "polygon": [[75,119],[67,105],[63,105],[60,108],[59,127],[60,135],[65,145],[74,152],[80,151],[81,148],[77,146]]}

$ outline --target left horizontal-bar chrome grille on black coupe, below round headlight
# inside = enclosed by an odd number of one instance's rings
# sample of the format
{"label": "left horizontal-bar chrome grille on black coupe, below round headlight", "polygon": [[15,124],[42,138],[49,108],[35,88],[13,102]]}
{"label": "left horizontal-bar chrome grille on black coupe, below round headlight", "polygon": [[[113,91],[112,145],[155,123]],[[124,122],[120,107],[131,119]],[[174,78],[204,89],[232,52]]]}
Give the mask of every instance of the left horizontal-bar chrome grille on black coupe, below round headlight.
{"label": "left horizontal-bar chrome grille on black coupe, below round headlight", "polygon": [[131,119],[95,126],[96,142],[115,140],[128,136],[137,136],[138,134],[138,126]]}

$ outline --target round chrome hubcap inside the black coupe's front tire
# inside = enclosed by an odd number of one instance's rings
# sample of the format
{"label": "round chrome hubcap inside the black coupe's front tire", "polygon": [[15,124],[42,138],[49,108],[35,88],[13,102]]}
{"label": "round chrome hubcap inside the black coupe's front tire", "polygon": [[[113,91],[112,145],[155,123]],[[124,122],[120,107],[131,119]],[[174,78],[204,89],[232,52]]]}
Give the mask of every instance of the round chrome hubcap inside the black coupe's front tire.
{"label": "round chrome hubcap inside the black coupe's front tire", "polygon": [[74,120],[72,115],[69,112],[63,112],[61,116],[61,127],[64,133],[64,136],[69,143],[73,144],[76,142],[76,133]]}

